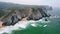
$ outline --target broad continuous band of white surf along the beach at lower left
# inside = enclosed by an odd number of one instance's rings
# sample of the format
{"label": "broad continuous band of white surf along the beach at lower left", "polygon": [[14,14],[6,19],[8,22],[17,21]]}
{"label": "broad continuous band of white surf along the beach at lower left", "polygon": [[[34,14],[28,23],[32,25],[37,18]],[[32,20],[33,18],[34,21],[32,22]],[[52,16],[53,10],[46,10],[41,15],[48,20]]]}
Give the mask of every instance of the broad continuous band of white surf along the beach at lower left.
{"label": "broad continuous band of white surf along the beach at lower left", "polygon": [[[27,25],[29,24],[29,22],[31,22],[31,21],[19,21],[14,26],[5,26],[0,29],[0,34],[2,34],[4,32],[10,33],[12,30],[17,30],[19,28],[25,29],[27,27]],[[34,22],[34,21],[32,21],[32,22]]]}

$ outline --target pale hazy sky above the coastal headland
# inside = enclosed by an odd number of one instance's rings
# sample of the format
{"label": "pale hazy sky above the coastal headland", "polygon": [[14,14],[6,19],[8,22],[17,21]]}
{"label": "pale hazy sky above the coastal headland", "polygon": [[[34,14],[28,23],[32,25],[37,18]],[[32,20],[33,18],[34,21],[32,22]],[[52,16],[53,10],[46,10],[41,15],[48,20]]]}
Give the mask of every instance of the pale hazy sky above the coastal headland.
{"label": "pale hazy sky above the coastal headland", "polygon": [[60,7],[60,0],[0,0],[0,2],[12,2],[29,5],[50,5],[53,7]]}

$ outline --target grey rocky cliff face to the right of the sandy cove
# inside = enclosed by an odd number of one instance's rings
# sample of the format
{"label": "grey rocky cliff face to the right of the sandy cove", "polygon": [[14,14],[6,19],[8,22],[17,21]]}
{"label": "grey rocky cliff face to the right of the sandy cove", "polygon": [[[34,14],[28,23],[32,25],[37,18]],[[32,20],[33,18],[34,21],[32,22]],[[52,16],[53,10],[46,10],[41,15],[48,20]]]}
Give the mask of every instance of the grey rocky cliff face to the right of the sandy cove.
{"label": "grey rocky cliff face to the right of the sandy cove", "polygon": [[39,20],[43,17],[49,17],[50,15],[47,14],[47,9],[37,8],[36,10],[32,9],[32,14],[30,15],[29,19],[31,20]]}

